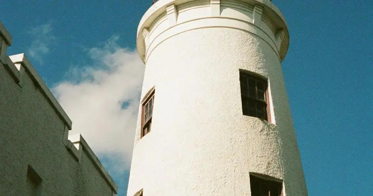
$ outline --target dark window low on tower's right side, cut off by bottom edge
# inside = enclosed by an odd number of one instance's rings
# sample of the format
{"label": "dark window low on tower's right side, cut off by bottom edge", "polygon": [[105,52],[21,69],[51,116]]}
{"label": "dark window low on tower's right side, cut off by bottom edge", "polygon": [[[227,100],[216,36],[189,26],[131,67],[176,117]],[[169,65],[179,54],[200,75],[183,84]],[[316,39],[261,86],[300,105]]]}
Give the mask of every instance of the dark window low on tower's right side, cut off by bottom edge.
{"label": "dark window low on tower's right side, cut off by bottom edge", "polygon": [[250,174],[251,196],[281,196],[282,182]]}

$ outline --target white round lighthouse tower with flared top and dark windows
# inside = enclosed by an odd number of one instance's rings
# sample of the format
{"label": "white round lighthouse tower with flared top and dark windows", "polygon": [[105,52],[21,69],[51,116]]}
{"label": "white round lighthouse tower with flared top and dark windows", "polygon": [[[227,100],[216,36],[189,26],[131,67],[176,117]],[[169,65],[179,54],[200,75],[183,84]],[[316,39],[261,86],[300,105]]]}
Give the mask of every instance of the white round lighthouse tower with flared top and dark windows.
{"label": "white round lighthouse tower with flared top and dark windows", "polygon": [[145,63],[128,195],[305,196],[270,0],[159,0],[140,21]]}

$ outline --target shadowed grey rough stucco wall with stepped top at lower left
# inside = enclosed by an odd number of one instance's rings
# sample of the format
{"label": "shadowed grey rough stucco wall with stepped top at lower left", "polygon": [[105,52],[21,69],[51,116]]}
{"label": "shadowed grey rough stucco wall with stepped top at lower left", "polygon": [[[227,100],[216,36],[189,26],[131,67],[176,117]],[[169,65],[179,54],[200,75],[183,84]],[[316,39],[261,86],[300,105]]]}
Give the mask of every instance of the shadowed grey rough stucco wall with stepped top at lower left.
{"label": "shadowed grey rough stucco wall with stepped top at lower left", "polygon": [[[77,161],[68,151],[66,122],[41,92],[40,83],[18,66],[20,71],[0,62],[0,195],[27,195],[31,165],[42,179],[40,195],[112,196],[112,187],[89,153],[76,151]],[[19,74],[17,80],[14,73]]]}

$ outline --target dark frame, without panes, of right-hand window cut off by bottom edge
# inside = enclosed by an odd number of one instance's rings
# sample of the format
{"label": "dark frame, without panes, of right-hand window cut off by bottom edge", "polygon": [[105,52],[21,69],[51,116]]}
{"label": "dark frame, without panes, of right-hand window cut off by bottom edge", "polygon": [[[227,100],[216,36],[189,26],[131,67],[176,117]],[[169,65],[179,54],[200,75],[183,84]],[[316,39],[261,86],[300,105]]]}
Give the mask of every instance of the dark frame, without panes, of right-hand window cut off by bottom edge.
{"label": "dark frame, without panes, of right-hand window cut off by bottom edge", "polygon": [[[279,180],[277,178],[268,176],[268,175],[263,175],[263,174],[257,174],[257,173],[251,173],[250,172],[250,190],[251,190],[251,196],[254,194],[254,189],[257,187],[253,187],[254,181],[259,184],[259,190],[256,190],[259,192],[259,195],[261,194],[261,186],[265,184],[266,190],[269,191],[269,196],[283,196],[283,181]],[[272,195],[270,194],[270,190],[273,187],[277,187],[277,194]],[[272,189],[273,190],[273,189]],[[255,196],[255,195],[254,195]]]}

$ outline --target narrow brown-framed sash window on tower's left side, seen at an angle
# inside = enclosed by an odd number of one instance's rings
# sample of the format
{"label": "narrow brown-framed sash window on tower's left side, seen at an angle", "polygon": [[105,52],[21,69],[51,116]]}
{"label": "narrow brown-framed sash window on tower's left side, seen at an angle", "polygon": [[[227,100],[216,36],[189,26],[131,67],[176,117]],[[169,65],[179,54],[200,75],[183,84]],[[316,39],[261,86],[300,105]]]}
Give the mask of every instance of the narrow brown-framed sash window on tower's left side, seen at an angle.
{"label": "narrow brown-framed sash window on tower's left side, seen at an angle", "polygon": [[148,94],[144,103],[142,104],[142,116],[141,116],[141,137],[144,137],[150,132],[151,119],[153,116],[153,104],[154,104],[154,89]]}

